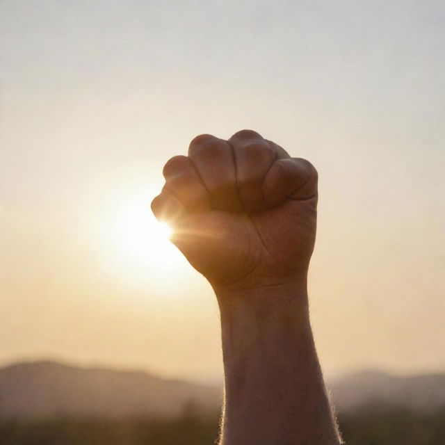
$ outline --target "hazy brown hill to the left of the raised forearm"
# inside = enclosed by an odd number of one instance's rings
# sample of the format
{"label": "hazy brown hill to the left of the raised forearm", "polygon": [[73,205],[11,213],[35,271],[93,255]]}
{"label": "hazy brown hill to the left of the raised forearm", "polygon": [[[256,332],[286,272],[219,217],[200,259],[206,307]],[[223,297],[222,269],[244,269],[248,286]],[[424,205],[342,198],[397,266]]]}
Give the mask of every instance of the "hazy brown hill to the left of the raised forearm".
{"label": "hazy brown hill to the left of the raised forearm", "polygon": [[0,369],[0,419],[168,417],[187,410],[215,411],[221,400],[220,388],[144,372],[82,369],[54,362]]}

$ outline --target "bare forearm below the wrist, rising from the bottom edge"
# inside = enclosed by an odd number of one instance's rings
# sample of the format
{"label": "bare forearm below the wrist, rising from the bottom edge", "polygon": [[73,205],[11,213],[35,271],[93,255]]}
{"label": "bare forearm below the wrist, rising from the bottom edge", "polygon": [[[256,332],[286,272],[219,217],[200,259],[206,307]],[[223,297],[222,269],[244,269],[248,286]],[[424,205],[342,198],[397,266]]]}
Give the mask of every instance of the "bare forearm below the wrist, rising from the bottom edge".
{"label": "bare forearm below the wrist, rising from the bottom edge", "polygon": [[221,444],[339,444],[305,283],[216,293],[225,368]]}

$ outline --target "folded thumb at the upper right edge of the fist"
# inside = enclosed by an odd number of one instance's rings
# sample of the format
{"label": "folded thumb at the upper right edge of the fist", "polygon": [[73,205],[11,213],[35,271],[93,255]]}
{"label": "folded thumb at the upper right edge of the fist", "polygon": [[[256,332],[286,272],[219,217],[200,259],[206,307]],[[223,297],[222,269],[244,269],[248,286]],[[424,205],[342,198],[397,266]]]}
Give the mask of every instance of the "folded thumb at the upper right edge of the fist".
{"label": "folded thumb at the upper right edge of the fist", "polygon": [[266,207],[286,200],[307,200],[317,196],[318,173],[314,165],[302,158],[278,159],[264,178]]}

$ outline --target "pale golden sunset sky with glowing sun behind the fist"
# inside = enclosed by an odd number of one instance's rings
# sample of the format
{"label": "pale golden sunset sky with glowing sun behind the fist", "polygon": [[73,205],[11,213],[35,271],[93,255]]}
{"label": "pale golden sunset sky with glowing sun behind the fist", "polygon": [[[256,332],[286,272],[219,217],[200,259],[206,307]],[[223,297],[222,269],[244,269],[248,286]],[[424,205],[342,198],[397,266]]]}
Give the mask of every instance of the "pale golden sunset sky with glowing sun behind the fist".
{"label": "pale golden sunset sky with glowing sun behind the fist", "polygon": [[444,79],[442,0],[0,1],[0,365],[218,380],[149,202],[194,136],[254,129],[319,173],[325,373],[444,371]]}

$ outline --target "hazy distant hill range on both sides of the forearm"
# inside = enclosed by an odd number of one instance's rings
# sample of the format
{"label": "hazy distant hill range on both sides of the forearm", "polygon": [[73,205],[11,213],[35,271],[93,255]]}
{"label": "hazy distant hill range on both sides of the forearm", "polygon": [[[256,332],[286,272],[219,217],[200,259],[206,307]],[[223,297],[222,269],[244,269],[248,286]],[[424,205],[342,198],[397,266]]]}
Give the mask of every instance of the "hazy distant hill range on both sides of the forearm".
{"label": "hazy distant hill range on both sides of the forearm", "polygon": [[[376,371],[329,385],[339,412],[369,405],[428,411],[445,406],[445,373],[398,377]],[[218,387],[166,380],[145,372],[83,369],[55,362],[0,369],[0,419],[60,416],[170,417],[220,409]]]}

